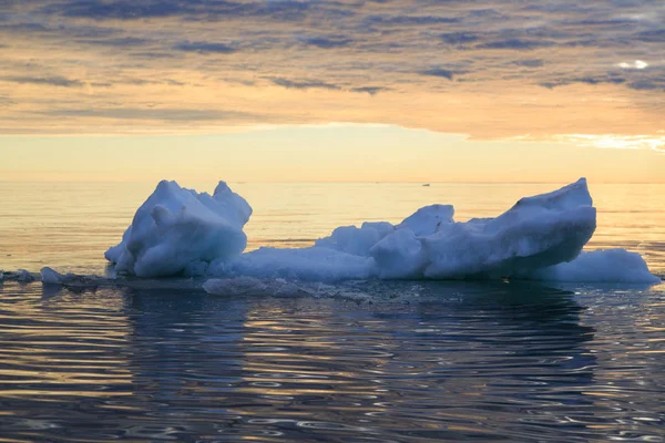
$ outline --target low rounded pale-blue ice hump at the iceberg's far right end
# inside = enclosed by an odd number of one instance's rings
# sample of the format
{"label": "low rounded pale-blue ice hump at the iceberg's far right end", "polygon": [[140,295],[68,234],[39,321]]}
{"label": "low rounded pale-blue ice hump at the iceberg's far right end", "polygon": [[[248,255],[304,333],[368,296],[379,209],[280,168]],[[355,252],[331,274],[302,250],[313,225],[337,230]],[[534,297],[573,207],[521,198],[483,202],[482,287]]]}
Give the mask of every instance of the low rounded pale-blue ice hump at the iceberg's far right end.
{"label": "low rounded pale-blue ice hump at the iceberg's far right end", "polygon": [[570,262],[534,271],[535,280],[611,284],[657,284],[661,279],[648,271],[646,262],[636,253],[625,249],[598,249],[582,253]]}

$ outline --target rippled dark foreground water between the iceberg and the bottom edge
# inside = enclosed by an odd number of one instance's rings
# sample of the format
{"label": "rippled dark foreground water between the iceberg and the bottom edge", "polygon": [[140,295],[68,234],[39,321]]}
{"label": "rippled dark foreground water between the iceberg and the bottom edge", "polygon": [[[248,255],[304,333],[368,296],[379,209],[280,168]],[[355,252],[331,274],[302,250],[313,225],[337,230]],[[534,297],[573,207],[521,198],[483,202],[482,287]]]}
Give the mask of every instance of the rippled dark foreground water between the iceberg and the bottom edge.
{"label": "rippled dark foreground water between the iceberg and the bottom edge", "polygon": [[[361,295],[361,296],[358,296]],[[0,286],[8,441],[664,441],[665,290]]]}

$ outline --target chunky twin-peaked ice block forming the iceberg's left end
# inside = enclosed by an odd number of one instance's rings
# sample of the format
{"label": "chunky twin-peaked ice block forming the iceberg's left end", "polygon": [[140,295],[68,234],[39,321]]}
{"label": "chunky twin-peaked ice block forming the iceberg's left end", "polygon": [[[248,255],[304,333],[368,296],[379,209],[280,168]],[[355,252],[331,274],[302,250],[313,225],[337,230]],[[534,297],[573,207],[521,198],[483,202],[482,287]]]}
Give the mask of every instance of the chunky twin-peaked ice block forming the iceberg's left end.
{"label": "chunky twin-peaked ice block forming the iceberg's left end", "polygon": [[250,215],[252,207],[224,182],[211,196],[162,181],[105,257],[116,271],[139,277],[203,272],[205,264],[245,249],[243,227]]}

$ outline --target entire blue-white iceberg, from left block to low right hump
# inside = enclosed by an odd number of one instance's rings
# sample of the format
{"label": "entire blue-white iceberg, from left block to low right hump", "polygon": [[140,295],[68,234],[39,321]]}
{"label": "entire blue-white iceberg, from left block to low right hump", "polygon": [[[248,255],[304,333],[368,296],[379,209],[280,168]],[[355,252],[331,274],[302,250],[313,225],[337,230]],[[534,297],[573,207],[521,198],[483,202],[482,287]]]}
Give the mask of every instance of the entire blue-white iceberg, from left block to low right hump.
{"label": "entire blue-white iceberg, from left block to low right hump", "polygon": [[242,254],[242,228],[250,214],[224,183],[209,196],[162,182],[106,258],[117,271],[140,277],[659,281],[637,254],[616,249],[580,256],[596,227],[584,178],[522,198],[495,218],[454,222],[452,206],[432,205],[398,225],[339,227],[311,247]]}

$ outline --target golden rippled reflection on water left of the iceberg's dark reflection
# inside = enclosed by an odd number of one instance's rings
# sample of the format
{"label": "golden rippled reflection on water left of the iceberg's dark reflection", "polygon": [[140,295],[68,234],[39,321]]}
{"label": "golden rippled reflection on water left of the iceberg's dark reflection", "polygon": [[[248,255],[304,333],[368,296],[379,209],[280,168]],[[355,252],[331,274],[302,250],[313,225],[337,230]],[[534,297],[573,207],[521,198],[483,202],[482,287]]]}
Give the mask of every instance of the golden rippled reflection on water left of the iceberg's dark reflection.
{"label": "golden rippled reflection on water left of the iceberg's dark reflection", "polygon": [[[131,326],[122,298],[100,290],[93,297],[44,300],[39,284],[19,289],[3,295],[0,309],[2,398],[132,394]],[[99,383],[113,389],[91,389]]]}

